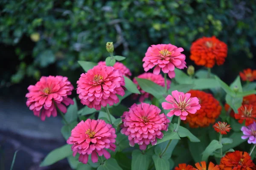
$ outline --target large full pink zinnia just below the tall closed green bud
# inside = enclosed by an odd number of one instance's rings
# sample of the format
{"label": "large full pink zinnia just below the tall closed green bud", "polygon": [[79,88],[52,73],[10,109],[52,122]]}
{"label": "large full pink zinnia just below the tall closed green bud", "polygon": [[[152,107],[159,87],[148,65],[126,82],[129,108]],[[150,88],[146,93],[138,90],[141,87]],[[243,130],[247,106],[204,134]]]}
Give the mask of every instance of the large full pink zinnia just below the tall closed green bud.
{"label": "large full pink zinnia just below the tall closed green bud", "polygon": [[100,110],[101,106],[112,106],[119,102],[116,94],[125,94],[121,85],[125,85],[121,71],[105,65],[96,65],[87,73],[81,74],[76,92],[83,105]]}

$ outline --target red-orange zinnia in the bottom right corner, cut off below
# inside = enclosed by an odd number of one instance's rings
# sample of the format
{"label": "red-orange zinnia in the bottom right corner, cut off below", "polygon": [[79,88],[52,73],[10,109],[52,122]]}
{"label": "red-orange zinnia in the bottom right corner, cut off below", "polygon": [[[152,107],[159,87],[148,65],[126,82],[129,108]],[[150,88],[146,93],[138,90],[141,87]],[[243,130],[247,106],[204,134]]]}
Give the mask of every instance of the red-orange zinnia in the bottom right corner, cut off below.
{"label": "red-orange zinnia in the bottom right corner, cut off below", "polygon": [[256,166],[247,152],[236,150],[221,158],[221,170],[255,170]]}

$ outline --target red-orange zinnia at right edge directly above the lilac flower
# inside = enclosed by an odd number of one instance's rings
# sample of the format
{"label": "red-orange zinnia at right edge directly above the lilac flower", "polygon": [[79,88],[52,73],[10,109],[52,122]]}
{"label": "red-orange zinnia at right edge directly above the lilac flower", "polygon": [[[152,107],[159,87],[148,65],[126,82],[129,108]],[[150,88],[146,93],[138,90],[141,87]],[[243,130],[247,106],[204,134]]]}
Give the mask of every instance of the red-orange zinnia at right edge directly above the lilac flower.
{"label": "red-orange zinnia at right edge directly above the lilac flower", "polygon": [[253,122],[256,122],[256,106],[242,105],[238,109],[238,114],[235,114],[235,118],[239,119],[239,123],[243,123],[245,120],[245,126],[249,126]]}

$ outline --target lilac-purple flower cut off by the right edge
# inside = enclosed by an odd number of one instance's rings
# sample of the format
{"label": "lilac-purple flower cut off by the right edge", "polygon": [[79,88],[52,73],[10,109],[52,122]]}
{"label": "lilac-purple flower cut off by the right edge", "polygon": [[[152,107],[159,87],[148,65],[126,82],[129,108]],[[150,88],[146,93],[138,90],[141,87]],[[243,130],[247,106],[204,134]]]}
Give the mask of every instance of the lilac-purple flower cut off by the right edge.
{"label": "lilac-purple flower cut off by the right edge", "polygon": [[250,124],[249,126],[241,127],[241,131],[244,133],[244,136],[241,136],[242,139],[248,138],[248,143],[256,144],[256,122],[253,122],[253,124]]}

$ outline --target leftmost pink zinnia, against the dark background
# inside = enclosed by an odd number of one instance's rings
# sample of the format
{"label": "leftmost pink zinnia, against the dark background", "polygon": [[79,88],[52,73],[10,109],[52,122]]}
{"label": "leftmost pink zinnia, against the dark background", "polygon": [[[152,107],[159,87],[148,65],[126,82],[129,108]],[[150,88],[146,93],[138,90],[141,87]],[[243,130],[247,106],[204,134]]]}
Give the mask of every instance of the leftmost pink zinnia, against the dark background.
{"label": "leftmost pink zinnia, against the dark background", "polygon": [[26,105],[34,112],[35,116],[40,116],[42,121],[46,116],[56,117],[56,106],[61,112],[66,113],[66,106],[74,104],[74,101],[67,97],[73,89],[74,87],[67,77],[43,76],[35,85],[29,85]]}

